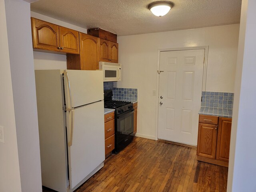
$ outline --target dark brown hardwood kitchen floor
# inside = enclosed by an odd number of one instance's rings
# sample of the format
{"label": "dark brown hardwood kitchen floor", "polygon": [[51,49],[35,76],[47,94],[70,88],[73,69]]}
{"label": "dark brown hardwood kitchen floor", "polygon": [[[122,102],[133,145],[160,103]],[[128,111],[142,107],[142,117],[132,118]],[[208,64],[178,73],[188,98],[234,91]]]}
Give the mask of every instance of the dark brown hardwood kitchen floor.
{"label": "dark brown hardwood kitchen floor", "polygon": [[196,148],[135,137],[75,192],[225,192],[227,176],[228,168],[197,161]]}

